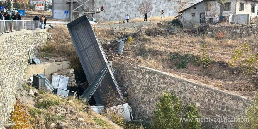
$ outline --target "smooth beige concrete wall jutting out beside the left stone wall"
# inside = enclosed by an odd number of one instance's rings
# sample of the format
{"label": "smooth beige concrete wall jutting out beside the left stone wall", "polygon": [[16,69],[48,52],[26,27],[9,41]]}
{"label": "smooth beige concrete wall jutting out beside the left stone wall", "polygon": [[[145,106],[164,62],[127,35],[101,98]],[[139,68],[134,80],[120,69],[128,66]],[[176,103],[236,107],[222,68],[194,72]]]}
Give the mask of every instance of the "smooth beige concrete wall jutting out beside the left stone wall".
{"label": "smooth beige concrete wall jutting out beside the left stone wall", "polygon": [[53,63],[40,63],[37,65],[28,65],[27,75],[33,77],[33,74],[43,73],[48,80],[52,80],[52,73],[62,69],[71,67],[70,61],[53,62]]}

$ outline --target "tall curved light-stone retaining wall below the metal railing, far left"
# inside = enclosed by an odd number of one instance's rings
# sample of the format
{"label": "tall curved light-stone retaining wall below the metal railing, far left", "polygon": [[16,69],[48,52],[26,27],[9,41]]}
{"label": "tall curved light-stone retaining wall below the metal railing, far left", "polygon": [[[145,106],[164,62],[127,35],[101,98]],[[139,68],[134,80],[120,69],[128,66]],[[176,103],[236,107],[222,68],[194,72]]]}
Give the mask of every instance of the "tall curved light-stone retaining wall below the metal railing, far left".
{"label": "tall curved light-stone retaining wall below the metal railing, far left", "polygon": [[46,30],[21,30],[0,35],[0,129],[8,124],[17,86],[27,79],[28,51],[47,42]]}

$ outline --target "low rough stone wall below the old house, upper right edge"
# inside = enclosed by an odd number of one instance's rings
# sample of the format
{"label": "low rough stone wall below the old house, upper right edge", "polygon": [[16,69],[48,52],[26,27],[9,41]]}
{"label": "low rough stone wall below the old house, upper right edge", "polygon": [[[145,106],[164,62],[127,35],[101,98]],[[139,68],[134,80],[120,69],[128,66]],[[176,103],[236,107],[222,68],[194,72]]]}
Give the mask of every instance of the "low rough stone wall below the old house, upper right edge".
{"label": "low rough stone wall below the old house, upper right edge", "polygon": [[225,33],[230,33],[232,36],[238,37],[248,37],[250,35],[258,34],[257,25],[221,25],[221,26],[210,26],[208,32],[218,32],[223,31]]}

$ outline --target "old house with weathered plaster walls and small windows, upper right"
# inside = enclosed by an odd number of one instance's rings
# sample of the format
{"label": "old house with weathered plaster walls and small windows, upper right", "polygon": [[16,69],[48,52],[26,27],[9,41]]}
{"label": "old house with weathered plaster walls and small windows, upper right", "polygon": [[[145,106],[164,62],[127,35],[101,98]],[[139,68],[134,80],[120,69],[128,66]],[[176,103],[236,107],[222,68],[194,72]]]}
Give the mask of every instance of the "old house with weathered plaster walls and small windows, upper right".
{"label": "old house with weathered plaster walls and small windows, upper right", "polygon": [[[258,1],[227,0],[223,9],[223,16],[229,23],[249,24],[252,18],[257,17]],[[215,23],[218,21],[220,4],[215,0],[204,0],[180,11],[184,26],[193,26],[200,23]],[[216,21],[214,20],[217,19]]]}

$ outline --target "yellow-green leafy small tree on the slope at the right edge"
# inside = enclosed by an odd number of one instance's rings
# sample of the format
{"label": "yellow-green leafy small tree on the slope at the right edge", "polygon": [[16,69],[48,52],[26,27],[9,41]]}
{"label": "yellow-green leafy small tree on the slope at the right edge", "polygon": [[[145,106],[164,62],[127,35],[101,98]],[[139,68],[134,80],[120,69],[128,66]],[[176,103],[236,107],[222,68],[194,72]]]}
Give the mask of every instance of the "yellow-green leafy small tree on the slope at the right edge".
{"label": "yellow-green leafy small tree on the slope at the right edge", "polygon": [[247,75],[257,71],[258,53],[250,54],[249,43],[243,43],[239,46],[239,49],[234,50],[231,60],[230,66],[236,69],[241,76],[245,77],[245,83]]}

